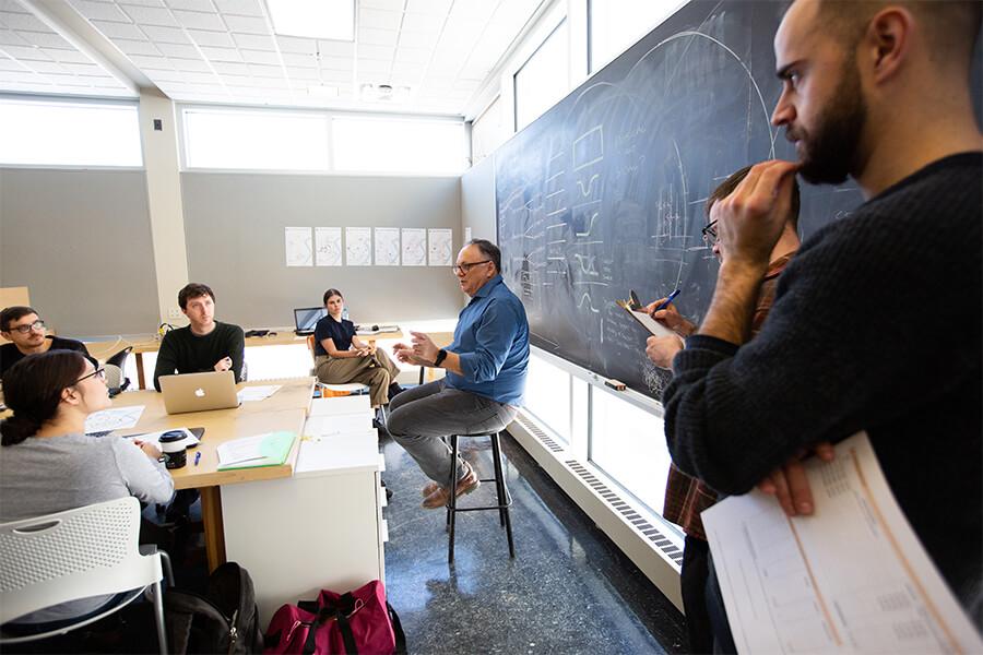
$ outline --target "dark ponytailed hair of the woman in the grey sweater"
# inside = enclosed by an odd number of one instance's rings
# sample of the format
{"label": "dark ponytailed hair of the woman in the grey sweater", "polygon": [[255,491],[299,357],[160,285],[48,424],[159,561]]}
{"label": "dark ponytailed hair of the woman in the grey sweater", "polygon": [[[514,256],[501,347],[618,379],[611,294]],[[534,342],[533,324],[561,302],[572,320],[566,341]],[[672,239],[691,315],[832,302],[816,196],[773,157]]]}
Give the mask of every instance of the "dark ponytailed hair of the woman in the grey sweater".
{"label": "dark ponytailed hair of the woman in the grey sweater", "polygon": [[58,414],[61,392],[85,371],[85,358],[73,350],[28,355],[3,373],[3,402],[13,416],[0,422],[0,443],[14,445],[37,433]]}

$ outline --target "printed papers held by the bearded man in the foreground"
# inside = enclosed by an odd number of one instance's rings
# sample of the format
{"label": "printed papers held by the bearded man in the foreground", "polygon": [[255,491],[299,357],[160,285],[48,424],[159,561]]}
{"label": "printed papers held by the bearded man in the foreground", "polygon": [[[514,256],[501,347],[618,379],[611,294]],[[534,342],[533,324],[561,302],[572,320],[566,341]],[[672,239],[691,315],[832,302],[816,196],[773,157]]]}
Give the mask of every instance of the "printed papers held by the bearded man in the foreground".
{"label": "printed papers held by the bearded man in the foreground", "polygon": [[866,433],[806,471],[813,516],[757,489],[701,514],[738,652],[983,652]]}

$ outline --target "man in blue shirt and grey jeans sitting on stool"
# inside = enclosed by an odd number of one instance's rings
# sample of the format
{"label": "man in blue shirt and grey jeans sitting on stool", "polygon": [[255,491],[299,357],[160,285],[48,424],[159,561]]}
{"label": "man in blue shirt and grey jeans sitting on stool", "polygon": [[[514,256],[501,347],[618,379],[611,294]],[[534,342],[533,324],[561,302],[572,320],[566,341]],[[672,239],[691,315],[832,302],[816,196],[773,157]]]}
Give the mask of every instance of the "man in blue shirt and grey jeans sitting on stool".
{"label": "man in blue shirt and grey jeans sitting on stool", "polygon": [[463,460],[452,462],[441,439],[450,434],[497,432],[519,412],[529,369],[525,308],[501,279],[501,251],[473,239],[458,254],[454,274],[471,302],[461,310],[454,341],[438,348],[429,336],[411,332],[413,345],[396,344],[407,364],[447,369],[447,376],[410,389],[389,405],[389,433],[434,480],[424,487],[423,507],[447,504],[453,471],[457,495],[470,493],[478,477]]}

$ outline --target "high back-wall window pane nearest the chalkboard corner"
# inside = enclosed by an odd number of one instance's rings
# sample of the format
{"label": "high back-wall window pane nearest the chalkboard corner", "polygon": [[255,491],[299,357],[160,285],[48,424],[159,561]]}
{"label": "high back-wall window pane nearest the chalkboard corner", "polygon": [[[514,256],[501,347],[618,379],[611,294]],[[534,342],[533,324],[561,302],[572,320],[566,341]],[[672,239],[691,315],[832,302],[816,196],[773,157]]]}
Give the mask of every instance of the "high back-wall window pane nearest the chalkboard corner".
{"label": "high back-wall window pane nearest the chalkboard corner", "polygon": [[336,170],[460,175],[466,167],[463,121],[335,117],[331,124]]}

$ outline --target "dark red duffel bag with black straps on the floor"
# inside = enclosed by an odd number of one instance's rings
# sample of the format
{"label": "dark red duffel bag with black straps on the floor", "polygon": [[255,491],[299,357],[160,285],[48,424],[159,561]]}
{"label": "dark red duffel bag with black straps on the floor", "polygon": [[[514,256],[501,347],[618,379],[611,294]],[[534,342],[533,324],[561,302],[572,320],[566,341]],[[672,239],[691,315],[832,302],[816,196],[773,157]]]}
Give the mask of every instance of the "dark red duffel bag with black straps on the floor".
{"label": "dark red duffel bag with black straps on the floor", "polygon": [[265,650],[304,655],[393,655],[406,652],[400,618],[378,580],[347,594],[321,590],[317,604],[284,605],[265,634]]}

